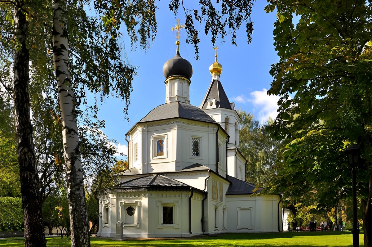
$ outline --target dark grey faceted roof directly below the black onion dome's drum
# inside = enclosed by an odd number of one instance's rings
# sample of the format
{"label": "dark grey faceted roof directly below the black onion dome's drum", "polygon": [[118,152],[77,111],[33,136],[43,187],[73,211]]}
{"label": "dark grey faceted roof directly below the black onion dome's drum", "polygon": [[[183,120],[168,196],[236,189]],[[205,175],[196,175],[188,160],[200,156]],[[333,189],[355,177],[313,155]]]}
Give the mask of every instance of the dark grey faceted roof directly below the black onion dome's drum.
{"label": "dark grey faceted roof directly below the black onion dome's drum", "polygon": [[183,102],[171,102],[159,105],[142,118],[138,123],[164,120],[170,118],[185,118],[207,123],[216,123],[200,108]]}

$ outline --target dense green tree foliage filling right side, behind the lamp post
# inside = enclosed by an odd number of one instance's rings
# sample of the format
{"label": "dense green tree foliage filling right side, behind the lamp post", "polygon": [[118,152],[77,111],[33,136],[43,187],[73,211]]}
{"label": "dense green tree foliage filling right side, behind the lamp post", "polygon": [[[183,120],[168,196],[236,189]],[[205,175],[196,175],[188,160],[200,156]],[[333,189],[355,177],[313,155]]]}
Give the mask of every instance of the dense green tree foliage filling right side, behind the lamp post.
{"label": "dense green tree foliage filling right side, behind the lamp post", "polygon": [[[350,197],[345,149],[357,143],[365,244],[372,236],[372,3],[269,0],[277,10],[279,62],[269,94],[280,95],[273,133],[286,138],[272,191],[303,195],[318,207]],[[368,185],[369,184],[369,185]],[[341,189],[342,188],[342,189]],[[363,203],[364,202],[364,203]]]}

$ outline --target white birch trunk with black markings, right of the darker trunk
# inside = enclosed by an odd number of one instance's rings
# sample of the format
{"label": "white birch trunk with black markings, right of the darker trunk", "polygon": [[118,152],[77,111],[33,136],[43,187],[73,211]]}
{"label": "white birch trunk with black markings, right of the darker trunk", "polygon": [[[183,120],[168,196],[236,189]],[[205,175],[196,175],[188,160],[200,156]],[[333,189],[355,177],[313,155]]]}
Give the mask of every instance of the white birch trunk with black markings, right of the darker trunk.
{"label": "white birch trunk with black markings, right of the darker trunk", "polygon": [[68,68],[67,1],[53,1],[53,59],[61,108],[71,246],[90,246],[75,96]]}

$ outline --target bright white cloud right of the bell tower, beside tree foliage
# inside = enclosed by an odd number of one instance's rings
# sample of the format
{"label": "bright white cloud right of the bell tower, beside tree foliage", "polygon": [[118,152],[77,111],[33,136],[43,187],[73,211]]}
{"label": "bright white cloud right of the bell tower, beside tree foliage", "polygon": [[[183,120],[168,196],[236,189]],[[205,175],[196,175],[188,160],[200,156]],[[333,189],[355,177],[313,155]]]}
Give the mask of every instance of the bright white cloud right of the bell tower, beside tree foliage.
{"label": "bright white cloud right of the bell tower, beside tree foliage", "polygon": [[278,115],[278,105],[279,96],[268,95],[267,89],[264,88],[262,91],[254,91],[250,93],[251,99],[249,102],[253,104],[255,110],[258,110],[258,115],[256,116],[259,121],[266,122],[271,117],[273,120]]}

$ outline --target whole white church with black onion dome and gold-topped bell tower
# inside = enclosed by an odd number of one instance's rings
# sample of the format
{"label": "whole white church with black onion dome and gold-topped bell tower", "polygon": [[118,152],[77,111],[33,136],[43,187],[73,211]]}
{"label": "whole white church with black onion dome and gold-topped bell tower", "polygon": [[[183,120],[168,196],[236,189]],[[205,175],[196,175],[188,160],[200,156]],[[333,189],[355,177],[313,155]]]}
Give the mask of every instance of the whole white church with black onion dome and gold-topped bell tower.
{"label": "whole white church with black onion dome and gold-topped bell tower", "polygon": [[165,104],[126,134],[129,170],[100,198],[97,236],[282,231],[280,196],[258,195],[245,181],[240,117],[219,80],[217,50],[211,84],[196,107],[189,99],[192,66],[180,56],[179,44],[177,38],[176,56],[163,66]]}

